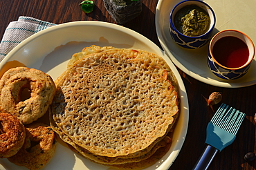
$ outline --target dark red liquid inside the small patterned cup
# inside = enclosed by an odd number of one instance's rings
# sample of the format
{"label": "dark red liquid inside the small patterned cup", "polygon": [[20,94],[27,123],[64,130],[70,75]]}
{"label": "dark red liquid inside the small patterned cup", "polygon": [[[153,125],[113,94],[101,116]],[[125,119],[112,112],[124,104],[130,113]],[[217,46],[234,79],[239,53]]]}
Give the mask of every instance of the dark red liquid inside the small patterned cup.
{"label": "dark red liquid inside the small patterned cup", "polygon": [[216,41],[212,55],[222,66],[237,68],[248,61],[249,49],[241,39],[228,36]]}

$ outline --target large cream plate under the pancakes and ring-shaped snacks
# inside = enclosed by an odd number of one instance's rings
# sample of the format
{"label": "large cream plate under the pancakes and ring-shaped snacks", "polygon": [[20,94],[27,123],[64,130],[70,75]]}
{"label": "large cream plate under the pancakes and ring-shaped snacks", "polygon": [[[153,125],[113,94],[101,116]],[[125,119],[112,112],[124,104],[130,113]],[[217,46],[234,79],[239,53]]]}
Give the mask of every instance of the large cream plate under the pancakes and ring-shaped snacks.
{"label": "large cream plate under the pancakes and ring-shaped snacks", "polygon": [[[29,37],[13,49],[0,64],[1,70],[6,70],[6,66],[28,66],[37,68],[48,73],[56,79],[64,70],[66,64],[73,53],[77,53],[85,46],[114,46],[117,48],[140,48],[156,53],[163,57],[172,68],[179,82],[179,97],[181,98],[181,114],[175,129],[174,139],[170,151],[156,164],[147,169],[168,169],[176,156],[179,154],[185,135],[188,129],[188,97],[185,86],[178,70],[170,58],[163,53],[161,48],[143,35],[118,26],[112,23],[100,21],[76,21],[63,23],[59,26],[47,28]],[[18,62],[10,62],[10,61]],[[6,64],[8,63],[8,64]],[[6,64],[5,67],[3,65]],[[26,169],[17,167],[7,159],[0,160],[0,169]],[[57,151],[44,169],[111,169],[109,167],[95,164],[86,158],[77,155],[68,149],[64,142],[57,143]]]}

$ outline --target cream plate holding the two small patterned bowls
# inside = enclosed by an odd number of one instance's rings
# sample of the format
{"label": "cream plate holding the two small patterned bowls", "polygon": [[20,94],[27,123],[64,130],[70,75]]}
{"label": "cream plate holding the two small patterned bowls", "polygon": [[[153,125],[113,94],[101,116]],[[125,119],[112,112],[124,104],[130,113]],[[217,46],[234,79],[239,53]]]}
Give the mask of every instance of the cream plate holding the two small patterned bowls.
{"label": "cream plate holding the two small patterned bowls", "polygon": [[[156,7],[156,32],[165,53],[184,73],[213,86],[237,88],[256,84],[256,59],[248,73],[236,80],[223,80],[210,72],[207,65],[208,44],[198,50],[189,50],[175,44],[170,35],[170,12],[181,0],[159,0]],[[256,43],[255,0],[205,0],[216,15],[214,33],[235,29],[248,35]]]}

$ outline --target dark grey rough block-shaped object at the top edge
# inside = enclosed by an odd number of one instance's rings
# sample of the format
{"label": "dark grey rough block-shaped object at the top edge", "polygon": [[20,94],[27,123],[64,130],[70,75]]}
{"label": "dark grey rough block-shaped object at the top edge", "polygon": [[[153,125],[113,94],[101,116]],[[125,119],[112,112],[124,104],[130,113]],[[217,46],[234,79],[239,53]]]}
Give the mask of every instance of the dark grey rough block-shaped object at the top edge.
{"label": "dark grey rough block-shaped object at the top edge", "polygon": [[103,0],[104,6],[118,24],[131,21],[140,15],[142,2],[131,0]]}

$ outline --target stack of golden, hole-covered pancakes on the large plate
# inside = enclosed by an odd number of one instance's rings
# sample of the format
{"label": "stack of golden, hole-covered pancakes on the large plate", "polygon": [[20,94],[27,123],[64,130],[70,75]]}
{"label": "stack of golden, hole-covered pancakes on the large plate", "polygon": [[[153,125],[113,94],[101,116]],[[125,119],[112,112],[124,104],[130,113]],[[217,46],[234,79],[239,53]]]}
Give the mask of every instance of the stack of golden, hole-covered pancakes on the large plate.
{"label": "stack of golden, hole-covered pancakes on the large plate", "polygon": [[179,113],[165,61],[143,50],[91,46],[55,81],[53,130],[93,162],[136,169],[161,158]]}

